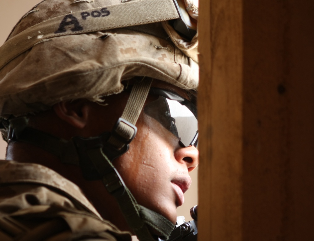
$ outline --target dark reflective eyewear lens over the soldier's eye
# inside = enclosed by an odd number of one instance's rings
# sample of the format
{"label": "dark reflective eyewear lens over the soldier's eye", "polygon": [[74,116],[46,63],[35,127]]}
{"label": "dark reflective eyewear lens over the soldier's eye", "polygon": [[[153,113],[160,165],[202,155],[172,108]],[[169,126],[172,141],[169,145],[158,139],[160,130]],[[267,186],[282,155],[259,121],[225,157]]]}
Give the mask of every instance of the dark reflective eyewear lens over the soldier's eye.
{"label": "dark reflective eyewear lens over the soldier's eye", "polygon": [[175,135],[181,145],[197,146],[198,120],[196,107],[188,100],[177,101],[159,96],[144,107],[144,113],[157,120]]}

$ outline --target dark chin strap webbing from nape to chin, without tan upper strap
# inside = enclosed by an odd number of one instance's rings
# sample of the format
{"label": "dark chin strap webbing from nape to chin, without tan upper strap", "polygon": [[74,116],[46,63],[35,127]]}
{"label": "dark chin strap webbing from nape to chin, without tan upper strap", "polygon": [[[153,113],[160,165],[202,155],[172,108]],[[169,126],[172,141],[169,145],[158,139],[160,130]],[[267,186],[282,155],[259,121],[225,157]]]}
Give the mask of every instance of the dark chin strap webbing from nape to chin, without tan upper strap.
{"label": "dark chin strap webbing from nape to chin, without tan upper strap", "polygon": [[[64,163],[79,165],[82,160],[92,163],[91,165],[97,170],[98,176],[102,177],[107,191],[116,197],[128,225],[134,230],[140,241],[158,239],[154,239],[147,227],[157,231],[163,239],[170,235],[174,225],[162,215],[136,202],[111,160],[103,153],[104,143],[97,141],[98,146],[95,146],[94,141],[96,139],[94,138],[74,138],[71,142],[67,142],[28,127],[27,122],[25,117],[11,121],[12,137],[15,140],[40,147],[63,159]],[[90,142],[93,142],[92,145]],[[65,155],[65,153],[67,154]],[[82,155],[83,153],[85,154]]]}

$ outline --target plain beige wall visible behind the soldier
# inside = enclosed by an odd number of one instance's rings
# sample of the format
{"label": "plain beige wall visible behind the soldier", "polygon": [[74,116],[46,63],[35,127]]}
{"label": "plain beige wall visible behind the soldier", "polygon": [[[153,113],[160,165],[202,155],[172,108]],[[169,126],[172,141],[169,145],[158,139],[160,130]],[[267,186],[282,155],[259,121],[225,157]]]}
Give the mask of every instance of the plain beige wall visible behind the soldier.
{"label": "plain beige wall visible behind the soldier", "polygon": [[[4,43],[12,28],[19,21],[19,19],[40,1],[41,0],[0,0],[0,45]],[[6,142],[0,138],[0,159],[5,158],[6,146]],[[198,203],[197,173],[197,169],[192,172],[191,188],[186,192],[186,200],[184,204],[177,210],[178,216],[184,216],[186,220],[191,220],[189,210],[192,206]]]}

